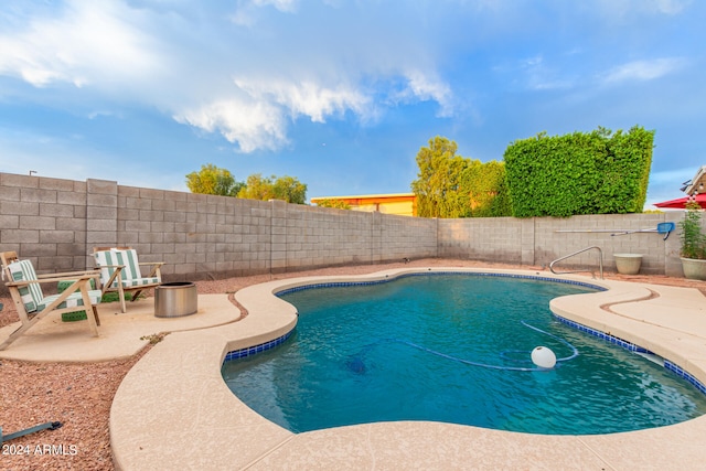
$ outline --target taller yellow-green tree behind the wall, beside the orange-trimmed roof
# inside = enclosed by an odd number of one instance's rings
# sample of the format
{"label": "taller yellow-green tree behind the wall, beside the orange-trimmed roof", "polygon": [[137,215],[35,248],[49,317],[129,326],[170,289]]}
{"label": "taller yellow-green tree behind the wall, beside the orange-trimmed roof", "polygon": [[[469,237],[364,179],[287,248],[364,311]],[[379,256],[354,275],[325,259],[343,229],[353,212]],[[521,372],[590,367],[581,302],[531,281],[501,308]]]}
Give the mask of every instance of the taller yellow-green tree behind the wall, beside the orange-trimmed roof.
{"label": "taller yellow-green tree behind the wall, beside the orange-trimmed roof", "polygon": [[462,217],[468,213],[468,194],[459,181],[468,159],[456,154],[457,144],[442,137],[429,139],[429,147],[417,153],[418,179],[411,182],[421,217]]}

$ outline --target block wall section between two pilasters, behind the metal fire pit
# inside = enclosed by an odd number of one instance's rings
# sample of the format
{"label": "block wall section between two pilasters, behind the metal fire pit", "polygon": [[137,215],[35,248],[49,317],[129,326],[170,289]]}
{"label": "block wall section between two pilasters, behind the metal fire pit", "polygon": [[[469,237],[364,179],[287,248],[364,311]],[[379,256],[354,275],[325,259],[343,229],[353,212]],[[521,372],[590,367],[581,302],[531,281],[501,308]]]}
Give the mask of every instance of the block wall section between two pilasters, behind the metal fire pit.
{"label": "block wall section between two pilasters, behind the metal fire pit", "polygon": [[120,186],[118,245],[164,261],[167,279],[207,279],[270,269],[268,202]]}

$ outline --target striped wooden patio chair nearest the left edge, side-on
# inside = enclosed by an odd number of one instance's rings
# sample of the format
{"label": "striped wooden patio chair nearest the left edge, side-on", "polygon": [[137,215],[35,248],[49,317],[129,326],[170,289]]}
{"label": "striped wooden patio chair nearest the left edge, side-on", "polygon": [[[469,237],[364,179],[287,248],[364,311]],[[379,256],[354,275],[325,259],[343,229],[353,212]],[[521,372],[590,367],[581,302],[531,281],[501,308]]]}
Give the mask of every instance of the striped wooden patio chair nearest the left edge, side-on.
{"label": "striped wooden patio chair nearest the left edge, side-on", "polygon": [[[90,332],[98,336],[98,309],[100,302],[100,290],[90,289],[90,280],[97,279],[98,274],[92,271],[72,271],[64,274],[36,275],[30,260],[20,260],[17,253],[0,253],[2,260],[2,278],[10,291],[14,307],[18,310],[22,325],[0,344],[0,350],[4,350],[12,342],[18,340],[24,332],[36,324],[42,318],[52,312],[64,313],[75,312],[77,308],[90,306],[93,315],[86,309],[86,318]],[[45,296],[42,291],[42,283],[57,283],[68,281],[66,289],[58,295]]]}

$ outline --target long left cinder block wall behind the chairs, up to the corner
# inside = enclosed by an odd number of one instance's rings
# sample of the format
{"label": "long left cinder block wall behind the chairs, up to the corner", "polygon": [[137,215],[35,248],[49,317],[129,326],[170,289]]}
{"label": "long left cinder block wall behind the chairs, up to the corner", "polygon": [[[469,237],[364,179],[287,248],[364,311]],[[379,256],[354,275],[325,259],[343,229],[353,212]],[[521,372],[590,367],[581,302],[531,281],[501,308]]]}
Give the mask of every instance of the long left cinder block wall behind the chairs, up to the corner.
{"label": "long left cinder block wall behind the chairs, up to the corner", "polygon": [[435,220],[103,180],[0,173],[0,250],[40,272],[93,268],[100,246],[131,246],[165,261],[165,279],[193,280],[437,256]]}

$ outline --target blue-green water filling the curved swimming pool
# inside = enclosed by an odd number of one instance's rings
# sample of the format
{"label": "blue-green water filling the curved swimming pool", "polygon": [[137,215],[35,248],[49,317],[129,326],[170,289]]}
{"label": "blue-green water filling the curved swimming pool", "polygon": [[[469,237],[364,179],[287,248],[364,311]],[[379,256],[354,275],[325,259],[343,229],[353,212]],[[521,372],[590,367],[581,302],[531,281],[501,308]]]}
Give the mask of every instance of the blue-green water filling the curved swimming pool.
{"label": "blue-green water filling the curved swimming pool", "polygon": [[[580,292],[591,290],[468,275],[300,290],[282,296],[300,314],[291,338],[222,373],[244,403],[295,432],[435,420],[590,435],[706,413],[685,379],[552,315],[550,299]],[[557,367],[530,361],[538,345]]]}

